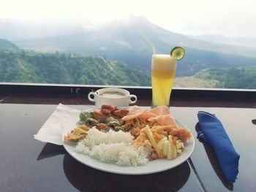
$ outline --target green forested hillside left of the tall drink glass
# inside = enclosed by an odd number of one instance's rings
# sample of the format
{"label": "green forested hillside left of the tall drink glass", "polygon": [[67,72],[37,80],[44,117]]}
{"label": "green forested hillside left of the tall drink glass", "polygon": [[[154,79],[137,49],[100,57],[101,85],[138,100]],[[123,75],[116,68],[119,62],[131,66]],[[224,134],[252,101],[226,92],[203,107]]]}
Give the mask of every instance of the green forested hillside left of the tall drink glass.
{"label": "green forested hillside left of the tall drink glass", "polygon": [[150,85],[143,72],[100,56],[0,50],[0,82]]}

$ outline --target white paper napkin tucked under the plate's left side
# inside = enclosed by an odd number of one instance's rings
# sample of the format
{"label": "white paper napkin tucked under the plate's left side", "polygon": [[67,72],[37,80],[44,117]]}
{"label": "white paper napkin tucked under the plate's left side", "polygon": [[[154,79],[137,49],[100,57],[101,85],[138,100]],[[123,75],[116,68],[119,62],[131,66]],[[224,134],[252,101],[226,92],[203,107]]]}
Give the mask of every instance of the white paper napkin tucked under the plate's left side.
{"label": "white paper napkin tucked under the plate's left side", "polygon": [[39,129],[38,133],[34,135],[34,139],[41,142],[50,142],[56,145],[62,145],[62,131],[64,126],[62,123],[69,119],[77,118],[79,120],[80,110],[75,110],[67,107],[64,104],[59,104],[56,110],[46,120],[44,125]]}

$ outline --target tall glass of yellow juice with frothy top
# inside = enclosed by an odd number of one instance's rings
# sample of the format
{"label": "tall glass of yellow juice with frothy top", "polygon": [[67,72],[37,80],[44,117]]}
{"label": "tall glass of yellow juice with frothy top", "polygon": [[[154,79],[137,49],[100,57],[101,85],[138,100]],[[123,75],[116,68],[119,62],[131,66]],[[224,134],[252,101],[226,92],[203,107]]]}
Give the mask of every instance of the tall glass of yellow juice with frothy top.
{"label": "tall glass of yellow juice with frothy top", "polygon": [[176,58],[171,55],[152,55],[152,107],[170,106],[170,93],[176,74]]}

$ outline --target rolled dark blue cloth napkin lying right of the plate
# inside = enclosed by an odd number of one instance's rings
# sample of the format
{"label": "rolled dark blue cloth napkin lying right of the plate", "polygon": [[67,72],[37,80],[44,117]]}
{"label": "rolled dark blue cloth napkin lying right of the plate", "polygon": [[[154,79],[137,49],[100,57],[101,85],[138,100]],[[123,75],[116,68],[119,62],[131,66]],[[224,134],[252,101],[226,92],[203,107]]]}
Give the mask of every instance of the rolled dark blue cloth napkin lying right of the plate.
{"label": "rolled dark blue cloth napkin lying right of the plate", "polygon": [[214,148],[226,180],[235,182],[240,155],[236,153],[225,128],[211,113],[199,111],[197,117],[201,128],[201,131],[197,132],[197,138]]}

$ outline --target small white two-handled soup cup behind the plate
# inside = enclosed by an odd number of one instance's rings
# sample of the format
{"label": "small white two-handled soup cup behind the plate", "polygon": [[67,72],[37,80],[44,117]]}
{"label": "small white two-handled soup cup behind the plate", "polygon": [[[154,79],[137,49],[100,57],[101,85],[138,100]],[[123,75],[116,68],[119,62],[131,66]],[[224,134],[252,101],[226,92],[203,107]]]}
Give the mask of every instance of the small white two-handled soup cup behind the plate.
{"label": "small white two-handled soup cup behind the plate", "polygon": [[[109,96],[102,95],[102,93],[118,92],[120,95]],[[95,92],[88,94],[89,101],[95,102],[97,108],[100,108],[102,104],[111,104],[116,107],[128,107],[129,104],[135,104],[137,102],[137,96],[130,95],[129,91],[123,88],[101,88]]]}

